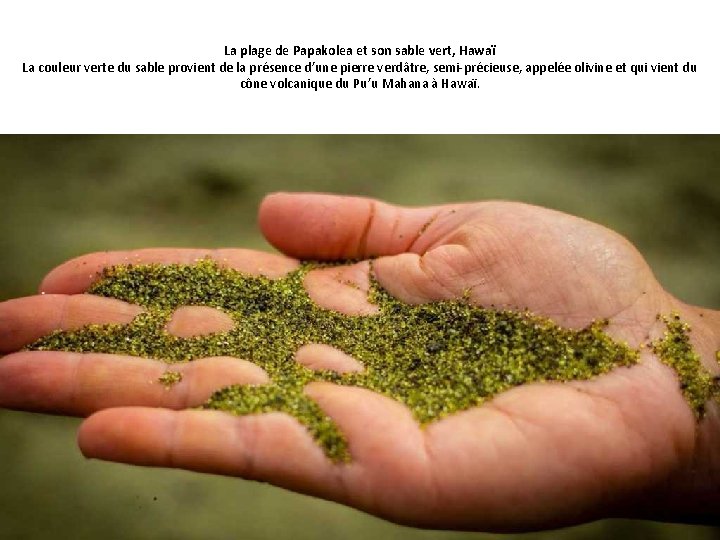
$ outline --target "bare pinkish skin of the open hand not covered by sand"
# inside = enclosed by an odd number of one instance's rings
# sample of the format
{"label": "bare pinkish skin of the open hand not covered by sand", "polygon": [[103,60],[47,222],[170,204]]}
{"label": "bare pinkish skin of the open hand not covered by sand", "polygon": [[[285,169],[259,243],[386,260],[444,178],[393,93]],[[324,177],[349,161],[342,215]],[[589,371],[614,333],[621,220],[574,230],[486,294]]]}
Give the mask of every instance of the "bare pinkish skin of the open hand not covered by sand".
{"label": "bare pinkish skin of the open hand not covered by sand", "polygon": [[[359,388],[313,383],[306,392],[345,433],[353,461],[333,464],[282,413],[234,417],[178,410],[228,384],[261,384],[257,366],[210,358],[173,366],[111,355],[17,352],[56,329],[128,322],[139,312],[82,294],[111,264],[189,263],[210,256],[278,277],[296,259],[365,259],[407,302],[468,295],[580,328],[608,318],[608,333],[639,347],[662,336],[658,313],[676,311],[718,373],[720,313],[666,292],[624,238],[543,208],[481,202],[401,208],[319,194],[274,194],[260,208],[267,239],[286,256],[247,250],[157,249],[95,253],[45,278],[45,294],[0,304],[0,406],[89,416],[78,440],[87,457],[179,467],[271,482],[422,527],[531,530],[603,517],[712,522],[720,500],[720,414],[697,423],[674,372],[642,349],[641,362],[592,381],[531,384],[421,429],[398,402]],[[372,313],[370,265],[315,271],[305,286],[323,307]],[[212,330],[217,314],[176,313],[173,333]],[[203,324],[200,319],[207,318]],[[210,319],[215,319],[215,322]],[[309,346],[305,365],[360,369]],[[353,363],[355,362],[355,363]]]}

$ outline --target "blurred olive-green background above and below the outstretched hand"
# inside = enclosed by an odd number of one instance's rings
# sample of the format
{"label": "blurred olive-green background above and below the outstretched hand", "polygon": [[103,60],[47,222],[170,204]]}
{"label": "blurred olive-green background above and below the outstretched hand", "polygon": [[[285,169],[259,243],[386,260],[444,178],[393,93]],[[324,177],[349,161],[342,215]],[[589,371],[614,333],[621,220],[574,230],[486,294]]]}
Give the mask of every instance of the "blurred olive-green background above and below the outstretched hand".
{"label": "blurred olive-green background above and below the outstretched hand", "polygon": [[[629,237],[681,299],[720,308],[720,137],[4,136],[0,299],[84,252],[269,249],[273,190],[419,205],[502,198]],[[399,527],[263,484],[85,461],[78,421],[0,411],[0,538],[492,538]],[[720,538],[609,520],[523,538]]]}

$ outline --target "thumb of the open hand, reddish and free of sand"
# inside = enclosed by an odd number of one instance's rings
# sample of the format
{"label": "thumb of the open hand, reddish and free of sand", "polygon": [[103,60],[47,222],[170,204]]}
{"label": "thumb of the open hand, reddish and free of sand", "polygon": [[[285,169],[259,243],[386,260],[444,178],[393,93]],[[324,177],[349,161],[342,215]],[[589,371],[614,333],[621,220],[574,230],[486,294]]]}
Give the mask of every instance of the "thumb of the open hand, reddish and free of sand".
{"label": "thumb of the open hand, reddish and free of sand", "polygon": [[424,233],[450,208],[408,208],[322,193],[274,193],[261,203],[258,220],[268,242],[290,256],[362,259],[421,253],[438,237]]}

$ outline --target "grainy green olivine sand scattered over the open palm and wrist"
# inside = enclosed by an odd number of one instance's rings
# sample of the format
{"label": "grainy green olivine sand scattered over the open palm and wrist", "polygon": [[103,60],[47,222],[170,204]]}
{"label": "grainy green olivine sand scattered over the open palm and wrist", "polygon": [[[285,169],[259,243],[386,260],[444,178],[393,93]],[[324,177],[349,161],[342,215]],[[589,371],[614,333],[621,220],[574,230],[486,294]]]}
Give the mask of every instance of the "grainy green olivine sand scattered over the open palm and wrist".
{"label": "grainy green olivine sand scattered over the open palm and wrist", "polygon": [[[347,442],[303,393],[311,381],[379,392],[407,405],[418,422],[426,424],[521,384],[590,379],[639,360],[639,351],[603,331],[606,321],[569,330],[527,312],[487,309],[463,300],[409,305],[374,281],[369,300],[379,314],[348,316],[322,309],[303,287],[305,274],[316,266],[306,263],[277,280],[211,261],[109,268],[88,292],[139,304],[144,313],[127,325],[55,332],[28,348],[129,354],[166,362],[208,356],[250,360],[272,382],[223,388],[203,407],[238,415],[287,412],[334,461],[350,459]],[[167,333],[164,327],[173,311],[189,305],[222,310],[236,326],[192,338]],[[712,378],[689,341],[683,342],[688,329],[673,320],[668,330],[654,348],[677,371],[690,405],[702,415],[705,401],[714,395]],[[332,345],[362,362],[365,370],[341,375],[308,369],[294,359],[308,343]]]}

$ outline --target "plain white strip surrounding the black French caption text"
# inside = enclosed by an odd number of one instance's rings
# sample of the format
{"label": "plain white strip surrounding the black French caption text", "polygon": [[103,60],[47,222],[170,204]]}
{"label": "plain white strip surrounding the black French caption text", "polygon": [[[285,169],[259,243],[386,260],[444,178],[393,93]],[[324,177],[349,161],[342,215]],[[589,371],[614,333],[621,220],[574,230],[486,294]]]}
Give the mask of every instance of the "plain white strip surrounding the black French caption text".
{"label": "plain white strip surrounding the black French caption text", "polygon": [[[717,132],[718,6],[717,1],[629,0],[6,2],[0,22],[0,131]],[[320,92],[242,90],[242,77],[228,74],[22,72],[23,62],[219,63],[226,45],[275,48],[280,43],[497,44],[494,61],[523,66],[556,60],[691,61],[698,71],[638,77],[481,75],[483,89],[475,91]],[[427,56],[421,61],[431,63]]]}

